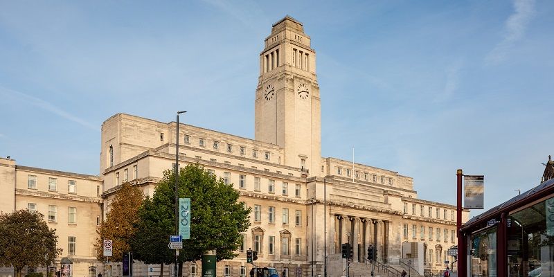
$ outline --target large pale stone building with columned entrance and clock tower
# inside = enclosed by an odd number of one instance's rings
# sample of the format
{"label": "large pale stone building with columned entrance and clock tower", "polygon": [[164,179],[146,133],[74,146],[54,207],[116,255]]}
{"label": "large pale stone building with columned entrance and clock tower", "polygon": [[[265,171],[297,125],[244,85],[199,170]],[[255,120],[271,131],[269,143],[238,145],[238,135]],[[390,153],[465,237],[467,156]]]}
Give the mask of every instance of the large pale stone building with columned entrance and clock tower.
{"label": "large pale stone building with columned entrance and clock tower", "polygon": [[[86,217],[90,222],[83,224],[89,224],[88,231],[75,235],[77,241],[93,242],[95,234],[90,229],[96,229],[96,209],[102,208],[100,214],[105,215],[123,182],[140,186],[145,195],[152,195],[163,170],[175,166],[179,143],[180,167],[199,163],[233,184],[240,201],[252,208],[251,226],[242,234],[239,256],[219,262],[218,276],[247,276],[251,269],[246,262],[247,249],[258,251],[256,265],[276,267],[279,272],[287,271],[287,276],[323,276],[325,260],[328,276],[345,275],[342,243],[353,246],[350,274],[355,275],[369,276],[366,256],[370,245],[377,247],[379,264],[400,271],[401,267],[407,271],[408,261],[412,273],[415,269],[421,275],[444,269],[445,261],[453,261],[446,252],[457,242],[456,206],[418,199],[413,179],[398,172],[321,157],[316,53],[301,22],[292,17],[274,24],[265,39],[255,106],[254,139],[181,124],[176,141],[175,122],[129,114],[105,120],[100,181],[78,176],[91,186],[86,202],[95,213]],[[33,169],[21,167],[18,179],[30,176],[29,170]],[[96,193],[98,184],[102,189]],[[27,207],[33,191],[23,183],[14,187],[15,207]],[[34,197],[38,203],[50,201],[37,193]],[[467,217],[464,211],[464,222]],[[60,225],[53,227],[66,229]],[[65,250],[66,242],[60,236],[62,258],[71,260],[75,257]],[[84,256],[93,257],[91,244],[78,247],[83,249],[73,252],[81,250]],[[93,276],[91,267],[102,270],[100,262],[85,258],[81,262],[84,265],[79,268],[83,271],[73,275]],[[103,270],[109,276],[120,276],[115,264]],[[159,271],[135,271],[143,272],[141,276],[159,275]],[[199,264],[184,265],[184,276],[199,276],[200,272]]]}

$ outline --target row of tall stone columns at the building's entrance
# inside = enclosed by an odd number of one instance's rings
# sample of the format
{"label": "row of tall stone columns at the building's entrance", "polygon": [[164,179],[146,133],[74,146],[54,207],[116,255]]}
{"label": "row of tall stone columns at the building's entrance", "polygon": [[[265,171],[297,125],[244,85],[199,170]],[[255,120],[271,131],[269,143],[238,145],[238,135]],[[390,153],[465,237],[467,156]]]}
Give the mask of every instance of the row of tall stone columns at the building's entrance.
{"label": "row of tall stone columns at the building's entrance", "polygon": [[[386,220],[335,214],[330,222],[331,253],[341,253],[341,244],[353,247],[352,260],[365,262],[370,245],[377,247],[377,260],[386,261],[388,224]],[[334,245],[334,247],[333,247]]]}

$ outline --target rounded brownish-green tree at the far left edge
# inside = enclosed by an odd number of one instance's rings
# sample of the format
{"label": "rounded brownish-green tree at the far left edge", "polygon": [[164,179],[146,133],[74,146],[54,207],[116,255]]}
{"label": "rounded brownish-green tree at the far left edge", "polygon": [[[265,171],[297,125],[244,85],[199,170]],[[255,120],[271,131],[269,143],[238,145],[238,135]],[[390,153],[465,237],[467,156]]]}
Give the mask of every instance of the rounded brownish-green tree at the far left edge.
{"label": "rounded brownish-green tree at the far left edge", "polygon": [[48,228],[41,213],[19,210],[0,214],[0,266],[14,267],[21,276],[24,267],[46,267],[62,253],[56,248],[55,229]]}

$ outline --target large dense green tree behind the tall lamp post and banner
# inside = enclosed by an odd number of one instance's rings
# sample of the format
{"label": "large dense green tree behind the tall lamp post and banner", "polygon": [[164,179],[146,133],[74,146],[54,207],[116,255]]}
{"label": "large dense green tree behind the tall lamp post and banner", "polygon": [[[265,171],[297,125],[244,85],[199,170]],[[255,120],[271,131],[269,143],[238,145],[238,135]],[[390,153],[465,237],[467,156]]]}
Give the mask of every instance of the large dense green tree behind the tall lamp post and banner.
{"label": "large dense green tree behind the tall lamp post and banner", "polygon": [[[232,184],[190,164],[179,172],[179,197],[190,198],[190,240],[179,251],[179,261],[201,260],[206,250],[217,251],[217,260],[231,259],[247,231],[250,208],[238,202],[239,193]],[[169,236],[175,234],[175,173],[166,170],[163,179],[139,211],[133,252],[139,260],[154,263],[151,256],[162,257],[155,263],[170,263],[175,251],[168,249]],[[155,253],[155,254],[154,254]]]}

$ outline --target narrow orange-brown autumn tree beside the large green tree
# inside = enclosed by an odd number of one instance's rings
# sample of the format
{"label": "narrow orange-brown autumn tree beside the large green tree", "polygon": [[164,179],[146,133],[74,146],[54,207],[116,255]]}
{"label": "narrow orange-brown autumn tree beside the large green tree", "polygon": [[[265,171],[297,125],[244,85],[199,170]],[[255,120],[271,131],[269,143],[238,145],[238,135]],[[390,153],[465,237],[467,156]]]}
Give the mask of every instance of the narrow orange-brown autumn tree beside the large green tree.
{"label": "narrow orange-brown autumn tree beside the large green tree", "polygon": [[105,260],[103,240],[112,241],[113,253],[110,260],[120,262],[123,253],[131,251],[129,246],[134,238],[135,224],[139,220],[137,211],[143,202],[143,192],[137,186],[122,184],[114,201],[109,204],[106,220],[98,226],[98,238],[94,243],[96,258]]}

